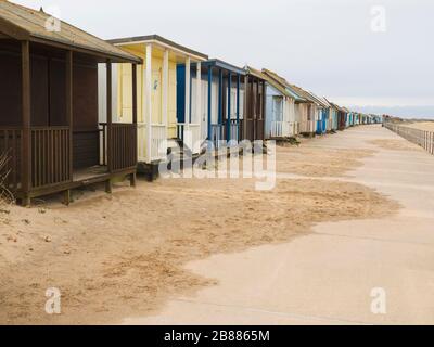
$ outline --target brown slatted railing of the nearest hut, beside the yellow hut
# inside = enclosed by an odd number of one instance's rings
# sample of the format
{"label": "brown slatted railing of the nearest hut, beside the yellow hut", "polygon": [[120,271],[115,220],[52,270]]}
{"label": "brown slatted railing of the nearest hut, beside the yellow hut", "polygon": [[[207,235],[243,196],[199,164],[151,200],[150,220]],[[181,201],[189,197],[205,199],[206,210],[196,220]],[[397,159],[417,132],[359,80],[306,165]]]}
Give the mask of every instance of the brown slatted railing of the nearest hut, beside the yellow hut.
{"label": "brown slatted railing of the nearest hut, beside the yellow hut", "polygon": [[100,153],[103,165],[107,165],[112,172],[136,167],[137,126],[135,124],[113,123],[111,134],[108,134],[107,124],[102,123],[100,126],[100,145],[102,145]]}

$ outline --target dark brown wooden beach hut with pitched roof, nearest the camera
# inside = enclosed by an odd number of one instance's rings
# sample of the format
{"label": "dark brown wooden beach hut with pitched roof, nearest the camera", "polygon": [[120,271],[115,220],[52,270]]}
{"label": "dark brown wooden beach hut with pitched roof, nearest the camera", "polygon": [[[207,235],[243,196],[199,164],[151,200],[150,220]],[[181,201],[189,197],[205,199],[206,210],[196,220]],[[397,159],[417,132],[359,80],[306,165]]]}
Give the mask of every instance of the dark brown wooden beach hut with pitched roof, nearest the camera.
{"label": "dark brown wooden beach hut with pitched roof, nearest the camera", "polygon": [[[49,27],[48,27],[49,26]],[[33,197],[115,178],[135,182],[136,100],[132,117],[114,123],[112,99],[98,119],[98,64],[136,70],[140,59],[65,22],[0,1],[0,151],[9,156],[7,187],[23,205]],[[137,87],[136,79],[129,81]]]}

